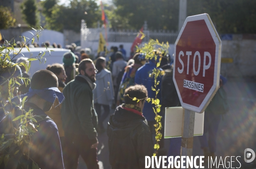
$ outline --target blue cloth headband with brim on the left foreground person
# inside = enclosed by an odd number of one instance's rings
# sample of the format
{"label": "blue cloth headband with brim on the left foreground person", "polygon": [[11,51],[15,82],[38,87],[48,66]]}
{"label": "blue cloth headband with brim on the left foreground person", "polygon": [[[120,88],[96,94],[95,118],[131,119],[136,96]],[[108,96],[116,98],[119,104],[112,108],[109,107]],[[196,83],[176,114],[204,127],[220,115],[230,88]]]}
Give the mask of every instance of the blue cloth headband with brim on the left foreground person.
{"label": "blue cloth headband with brim on the left foreground person", "polygon": [[45,88],[45,89],[41,89],[41,90],[29,88],[29,92],[27,92],[25,95],[21,95],[20,97],[21,97],[21,99],[23,99],[24,97],[27,96],[28,97],[27,99],[29,99],[34,95],[38,95],[39,97],[41,97],[42,99],[44,99],[50,103],[54,103],[54,101],[57,97],[58,101],[59,101],[58,105],[60,105],[65,98],[64,95],[59,91],[59,89],[57,87],[50,87],[50,88]]}

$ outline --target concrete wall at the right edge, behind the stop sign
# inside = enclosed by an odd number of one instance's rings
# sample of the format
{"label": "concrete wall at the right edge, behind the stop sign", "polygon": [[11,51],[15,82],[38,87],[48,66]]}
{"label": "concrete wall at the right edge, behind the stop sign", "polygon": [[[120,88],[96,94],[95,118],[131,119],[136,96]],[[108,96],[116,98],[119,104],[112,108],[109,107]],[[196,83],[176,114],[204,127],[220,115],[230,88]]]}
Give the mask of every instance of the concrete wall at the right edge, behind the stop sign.
{"label": "concrete wall at the right edge, behind the stop sign", "polygon": [[256,38],[254,35],[233,35],[222,41],[222,58],[233,58],[233,63],[221,63],[221,74],[226,77],[256,77]]}

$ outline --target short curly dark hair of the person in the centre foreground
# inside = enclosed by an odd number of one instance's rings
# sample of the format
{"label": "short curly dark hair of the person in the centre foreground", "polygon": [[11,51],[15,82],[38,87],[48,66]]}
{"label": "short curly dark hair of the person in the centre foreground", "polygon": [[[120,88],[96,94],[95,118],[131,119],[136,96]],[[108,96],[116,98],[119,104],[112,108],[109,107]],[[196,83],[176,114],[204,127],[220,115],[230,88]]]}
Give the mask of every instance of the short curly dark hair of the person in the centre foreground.
{"label": "short curly dark hair of the person in the centre foreground", "polygon": [[141,101],[145,101],[145,99],[148,97],[148,91],[147,91],[147,88],[145,88],[145,86],[143,85],[134,85],[125,89],[124,97],[125,97],[125,104],[136,105],[137,100],[132,100],[132,99],[136,97],[137,99],[142,99]]}

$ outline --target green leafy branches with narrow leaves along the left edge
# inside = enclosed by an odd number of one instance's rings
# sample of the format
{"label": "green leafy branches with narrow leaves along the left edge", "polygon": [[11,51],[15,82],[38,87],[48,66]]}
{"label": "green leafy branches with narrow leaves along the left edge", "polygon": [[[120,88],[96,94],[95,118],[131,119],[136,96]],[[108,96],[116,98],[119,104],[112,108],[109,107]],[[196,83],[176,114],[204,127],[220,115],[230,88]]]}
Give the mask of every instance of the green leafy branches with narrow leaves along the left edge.
{"label": "green leafy branches with narrow leaves along the left edge", "polygon": [[[34,28],[32,28],[34,29]],[[39,52],[39,54],[36,57],[31,57],[23,62],[16,63],[12,65],[12,60],[18,55],[22,54],[21,50],[26,47],[26,49],[29,51],[29,47],[27,46],[27,43],[32,40],[32,43],[35,40],[35,37],[39,39],[39,34],[44,30],[42,27],[40,30],[34,29],[37,33],[33,34],[33,37],[31,39],[24,37],[23,39],[25,43],[22,43],[23,45],[19,50],[14,49],[14,46],[17,44],[15,43],[15,40],[7,41],[5,40],[5,45],[0,46],[0,78],[3,79],[3,83],[0,85],[0,89],[2,89],[3,85],[6,85],[8,82],[8,98],[7,100],[9,103],[6,103],[6,100],[0,99],[0,109],[3,109],[6,115],[9,115],[11,117],[12,123],[12,133],[8,134],[2,134],[0,135],[0,164],[2,162],[7,165],[9,158],[15,158],[15,160],[20,163],[20,158],[22,155],[25,155],[27,159],[32,160],[29,157],[29,148],[30,148],[30,141],[32,135],[37,132],[38,125],[36,119],[40,119],[42,117],[33,115],[32,109],[30,109],[28,112],[26,112],[23,107],[24,103],[26,101],[26,97],[23,98],[22,102],[20,104],[16,104],[15,102],[12,102],[12,98],[14,97],[14,90],[15,90],[15,84],[20,85],[19,80],[23,80],[26,85],[28,85],[29,78],[24,77],[13,77],[14,72],[16,71],[16,65],[23,66],[26,69],[26,72],[29,71],[31,66],[31,61],[39,60],[40,64],[46,62],[46,59],[44,58],[44,55],[46,52],[50,52],[52,50],[48,50],[47,46],[46,50],[44,52]],[[28,41],[26,41],[28,39]],[[12,58],[11,58],[12,55]],[[23,54],[22,54],[23,55]],[[24,56],[24,55],[23,55]],[[27,64],[28,63],[28,64]],[[11,69],[14,68],[13,74],[11,74]],[[11,74],[11,78],[3,77],[2,72],[5,70],[8,70]],[[0,93],[0,98],[2,98],[2,95]],[[13,108],[12,106],[16,107]],[[8,107],[9,106],[9,107]],[[18,111],[19,116],[15,117],[16,113],[15,111]],[[33,161],[33,160],[32,160]],[[32,163],[33,169],[39,169],[37,163],[33,161]],[[27,166],[24,166],[23,168],[27,168]]]}

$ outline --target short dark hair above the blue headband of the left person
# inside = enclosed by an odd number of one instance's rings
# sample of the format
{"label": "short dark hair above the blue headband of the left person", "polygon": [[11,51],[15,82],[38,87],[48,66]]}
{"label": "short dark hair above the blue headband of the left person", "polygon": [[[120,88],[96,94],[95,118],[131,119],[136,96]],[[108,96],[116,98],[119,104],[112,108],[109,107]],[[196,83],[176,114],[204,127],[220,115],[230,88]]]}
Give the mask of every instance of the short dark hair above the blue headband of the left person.
{"label": "short dark hair above the blue headband of the left person", "polygon": [[31,78],[31,89],[58,87],[58,77],[49,70],[38,70]]}

